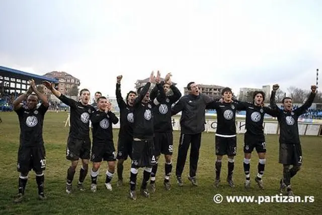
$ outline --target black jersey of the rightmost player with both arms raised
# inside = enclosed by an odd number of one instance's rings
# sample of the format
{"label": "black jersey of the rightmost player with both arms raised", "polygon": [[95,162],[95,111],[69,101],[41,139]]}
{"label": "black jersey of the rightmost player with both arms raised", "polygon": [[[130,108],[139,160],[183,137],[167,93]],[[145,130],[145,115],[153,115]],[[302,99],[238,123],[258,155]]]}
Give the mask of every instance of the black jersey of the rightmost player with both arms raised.
{"label": "black jersey of the rightmost player with both arms raised", "polygon": [[272,91],[270,102],[271,107],[277,113],[277,120],[280,125],[280,144],[300,144],[297,120],[312,105],[314,97],[315,93],[311,93],[301,107],[292,111],[286,111],[278,108],[275,102],[275,91]]}

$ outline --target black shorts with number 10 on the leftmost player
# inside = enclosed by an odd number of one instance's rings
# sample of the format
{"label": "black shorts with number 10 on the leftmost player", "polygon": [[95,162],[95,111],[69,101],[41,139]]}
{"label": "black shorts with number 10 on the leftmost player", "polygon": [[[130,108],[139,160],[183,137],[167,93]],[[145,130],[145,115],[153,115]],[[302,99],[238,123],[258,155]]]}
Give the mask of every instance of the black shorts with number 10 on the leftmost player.
{"label": "black shorts with number 10 on the leftmost player", "polygon": [[43,144],[35,147],[19,147],[17,164],[18,172],[28,173],[31,170],[41,172],[45,169],[46,151]]}

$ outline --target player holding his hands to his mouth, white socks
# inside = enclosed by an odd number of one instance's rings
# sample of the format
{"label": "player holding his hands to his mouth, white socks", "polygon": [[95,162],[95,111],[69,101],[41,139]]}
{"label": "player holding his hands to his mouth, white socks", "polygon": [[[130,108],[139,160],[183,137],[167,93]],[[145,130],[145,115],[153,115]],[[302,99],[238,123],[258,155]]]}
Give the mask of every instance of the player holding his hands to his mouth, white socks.
{"label": "player holding his hands to his mouth, white socks", "polygon": [[93,147],[92,159],[93,168],[91,170],[92,185],[91,190],[96,192],[97,177],[102,160],[107,161],[105,187],[112,190],[111,180],[115,171],[116,152],[113,142],[112,124],[117,124],[119,119],[111,111],[111,103],[106,97],[101,96],[97,99],[98,110],[91,114],[93,125]]}

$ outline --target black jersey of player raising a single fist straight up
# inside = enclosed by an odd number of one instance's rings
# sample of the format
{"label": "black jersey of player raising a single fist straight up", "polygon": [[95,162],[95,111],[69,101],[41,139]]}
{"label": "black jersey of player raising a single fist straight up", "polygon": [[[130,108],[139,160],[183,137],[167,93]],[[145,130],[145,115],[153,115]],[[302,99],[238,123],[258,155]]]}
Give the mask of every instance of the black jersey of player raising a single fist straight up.
{"label": "black jersey of player raising a single fist straight up", "polygon": [[125,103],[121,94],[121,84],[116,83],[116,100],[120,108],[120,130],[119,137],[128,136],[133,138],[133,106]]}

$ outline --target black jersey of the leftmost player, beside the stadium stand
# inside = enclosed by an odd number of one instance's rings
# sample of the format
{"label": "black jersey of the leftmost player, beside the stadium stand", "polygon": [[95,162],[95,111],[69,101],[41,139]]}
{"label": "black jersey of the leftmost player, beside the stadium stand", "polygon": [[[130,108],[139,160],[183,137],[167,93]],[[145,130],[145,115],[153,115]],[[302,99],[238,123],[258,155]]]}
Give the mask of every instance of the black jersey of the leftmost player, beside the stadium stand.
{"label": "black jersey of the leftmost player, beside the stadium stand", "polygon": [[48,107],[41,104],[35,109],[21,106],[15,110],[20,124],[20,145],[33,147],[44,144],[42,128]]}

